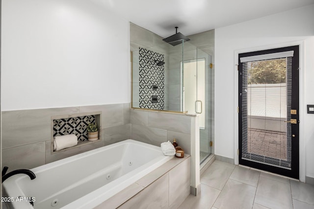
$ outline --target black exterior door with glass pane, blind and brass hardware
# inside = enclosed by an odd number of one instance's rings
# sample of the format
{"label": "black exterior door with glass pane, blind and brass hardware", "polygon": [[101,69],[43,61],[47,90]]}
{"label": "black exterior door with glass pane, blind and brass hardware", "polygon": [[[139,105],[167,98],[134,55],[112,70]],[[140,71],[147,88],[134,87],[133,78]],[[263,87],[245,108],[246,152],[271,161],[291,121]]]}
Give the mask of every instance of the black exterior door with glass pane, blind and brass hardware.
{"label": "black exterior door with glass pane, blind and brass hardware", "polygon": [[299,179],[299,46],[239,54],[239,164]]}

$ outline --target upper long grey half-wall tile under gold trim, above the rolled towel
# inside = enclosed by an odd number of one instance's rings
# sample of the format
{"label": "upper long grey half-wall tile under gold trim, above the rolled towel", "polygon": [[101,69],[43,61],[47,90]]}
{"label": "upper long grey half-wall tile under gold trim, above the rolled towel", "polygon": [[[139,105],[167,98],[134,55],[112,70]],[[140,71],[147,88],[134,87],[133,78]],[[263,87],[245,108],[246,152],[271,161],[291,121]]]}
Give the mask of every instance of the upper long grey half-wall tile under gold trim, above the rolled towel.
{"label": "upper long grey half-wall tile under gold trim, above the rolled towel", "polygon": [[190,116],[150,112],[148,113],[148,125],[169,131],[177,131],[186,134],[191,133]]}

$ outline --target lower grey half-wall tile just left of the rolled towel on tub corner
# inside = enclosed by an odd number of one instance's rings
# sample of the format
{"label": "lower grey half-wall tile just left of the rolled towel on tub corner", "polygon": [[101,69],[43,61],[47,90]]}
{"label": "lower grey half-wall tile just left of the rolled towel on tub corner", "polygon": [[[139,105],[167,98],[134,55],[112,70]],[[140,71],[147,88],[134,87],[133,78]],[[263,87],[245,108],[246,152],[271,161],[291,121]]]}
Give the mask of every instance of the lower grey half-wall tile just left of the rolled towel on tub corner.
{"label": "lower grey half-wall tile just left of the rolled towel on tub corner", "polygon": [[147,126],[132,124],[131,139],[160,146],[167,140],[167,131]]}

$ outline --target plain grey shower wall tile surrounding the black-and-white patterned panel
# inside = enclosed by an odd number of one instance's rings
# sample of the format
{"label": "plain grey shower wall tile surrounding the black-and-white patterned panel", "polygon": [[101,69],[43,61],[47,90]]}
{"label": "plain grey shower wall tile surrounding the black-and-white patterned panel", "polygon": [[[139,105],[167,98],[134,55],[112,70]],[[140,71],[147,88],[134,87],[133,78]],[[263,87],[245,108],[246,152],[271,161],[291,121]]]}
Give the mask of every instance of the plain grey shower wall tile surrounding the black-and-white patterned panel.
{"label": "plain grey shower wall tile surrounding the black-and-white patterned panel", "polygon": [[[160,51],[165,57],[165,108],[164,110],[181,111],[181,61],[203,58],[207,55],[211,55],[211,63],[213,67],[206,71],[206,89],[210,92],[210,96],[206,97],[206,107],[210,107],[210,111],[207,112],[206,130],[201,130],[200,135],[201,147],[204,152],[209,151],[210,138],[214,141],[214,30],[205,31],[202,33],[188,36],[190,41],[185,42],[183,45],[171,46],[162,41],[162,37],[157,34],[146,30],[136,24],[130,23],[130,45],[131,51],[133,51],[133,75],[138,80],[138,47],[147,47],[154,51]],[[198,50],[196,50],[196,47]],[[136,57],[137,56],[137,57]],[[208,59],[206,59],[208,61]],[[131,63],[132,65],[132,63]],[[206,63],[207,67],[209,62]],[[134,80],[133,78],[133,80]],[[137,101],[139,100],[139,85],[133,82],[133,107],[139,107]],[[214,153],[214,144],[211,147],[211,153]]]}

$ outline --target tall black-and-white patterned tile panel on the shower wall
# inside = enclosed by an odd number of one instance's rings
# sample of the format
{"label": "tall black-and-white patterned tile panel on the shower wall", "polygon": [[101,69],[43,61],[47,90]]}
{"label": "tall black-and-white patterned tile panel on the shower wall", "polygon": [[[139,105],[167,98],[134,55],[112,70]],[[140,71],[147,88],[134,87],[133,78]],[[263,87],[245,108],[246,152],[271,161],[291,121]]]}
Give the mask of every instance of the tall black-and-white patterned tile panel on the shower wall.
{"label": "tall black-and-white patterned tile panel on the shower wall", "polygon": [[[147,109],[164,109],[164,55],[139,47],[139,107]],[[157,89],[153,89],[157,85]],[[157,103],[152,102],[157,95]]]}

